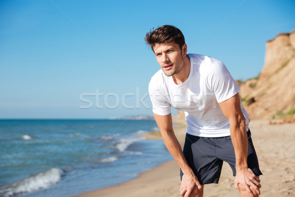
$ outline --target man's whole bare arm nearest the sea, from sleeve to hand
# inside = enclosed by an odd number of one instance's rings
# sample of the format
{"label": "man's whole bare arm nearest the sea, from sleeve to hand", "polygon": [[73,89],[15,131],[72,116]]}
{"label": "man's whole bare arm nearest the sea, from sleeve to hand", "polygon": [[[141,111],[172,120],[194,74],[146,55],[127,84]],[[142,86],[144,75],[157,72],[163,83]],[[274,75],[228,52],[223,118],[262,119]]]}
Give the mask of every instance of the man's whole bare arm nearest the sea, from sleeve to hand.
{"label": "man's whole bare arm nearest the sea, from sleeve to hand", "polygon": [[180,186],[180,195],[182,197],[189,197],[190,193],[193,191],[194,187],[197,186],[201,190],[202,186],[195,176],[193,170],[187,164],[184,155],[181,150],[181,146],[175,136],[173,131],[172,116],[171,113],[168,115],[157,115],[154,113],[154,118],[160,129],[163,141],[176,160],[177,164],[183,172],[181,186]]}

